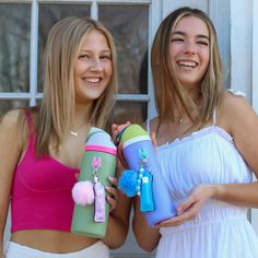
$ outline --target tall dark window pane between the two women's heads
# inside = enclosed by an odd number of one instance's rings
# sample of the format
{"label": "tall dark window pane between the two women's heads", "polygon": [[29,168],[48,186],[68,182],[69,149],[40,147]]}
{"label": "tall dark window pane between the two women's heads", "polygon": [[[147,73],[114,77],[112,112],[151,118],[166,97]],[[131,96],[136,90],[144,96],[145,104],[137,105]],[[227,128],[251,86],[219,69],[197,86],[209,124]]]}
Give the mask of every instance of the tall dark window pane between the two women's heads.
{"label": "tall dark window pane between the two women's heads", "polygon": [[148,5],[99,5],[98,19],[115,37],[119,93],[148,92]]}

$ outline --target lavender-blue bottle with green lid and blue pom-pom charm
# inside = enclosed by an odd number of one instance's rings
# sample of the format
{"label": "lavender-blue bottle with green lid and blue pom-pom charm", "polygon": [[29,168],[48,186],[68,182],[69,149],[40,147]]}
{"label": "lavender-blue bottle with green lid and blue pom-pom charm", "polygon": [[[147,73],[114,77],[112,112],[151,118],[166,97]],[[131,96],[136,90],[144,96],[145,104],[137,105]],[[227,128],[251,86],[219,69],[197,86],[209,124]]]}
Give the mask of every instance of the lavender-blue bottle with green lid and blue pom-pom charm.
{"label": "lavender-blue bottle with green lid and blue pom-pom charm", "polygon": [[177,212],[166,178],[148,132],[139,125],[119,126],[118,130],[118,141],[122,143],[122,154],[131,169],[122,173],[119,189],[129,197],[140,196],[140,210],[150,226],[175,216]]}

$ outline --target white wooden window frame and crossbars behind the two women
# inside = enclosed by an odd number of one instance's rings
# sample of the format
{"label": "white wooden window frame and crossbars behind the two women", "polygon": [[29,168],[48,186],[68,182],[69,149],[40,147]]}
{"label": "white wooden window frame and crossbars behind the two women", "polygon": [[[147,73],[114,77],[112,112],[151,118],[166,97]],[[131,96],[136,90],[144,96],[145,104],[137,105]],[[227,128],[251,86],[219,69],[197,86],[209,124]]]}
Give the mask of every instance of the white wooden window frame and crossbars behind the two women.
{"label": "white wooden window frame and crossbars behind the two women", "polygon": [[[161,22],[161,1],[160,0],[0,0],[0,3],[31,3],[31,46],[30,46],[30,91],[22,93],[0,93],[0,99],[28,99],[30,105],[36,105],[37,99],[43,97],[37,92],[37,57],[38,57],[38,8],[40,3],[89,3],[91,4],[91,17],[98,19],[98,3],[104,4],[146,4],[149,8],[149,52],[153,40],[153,35]],[[118,94],[117,101],[122,102],[148,102],[148,117],[155,115],[155,104],[153,97],[153,84],[150,69],[149,55],[148,71],[148,94]]]}

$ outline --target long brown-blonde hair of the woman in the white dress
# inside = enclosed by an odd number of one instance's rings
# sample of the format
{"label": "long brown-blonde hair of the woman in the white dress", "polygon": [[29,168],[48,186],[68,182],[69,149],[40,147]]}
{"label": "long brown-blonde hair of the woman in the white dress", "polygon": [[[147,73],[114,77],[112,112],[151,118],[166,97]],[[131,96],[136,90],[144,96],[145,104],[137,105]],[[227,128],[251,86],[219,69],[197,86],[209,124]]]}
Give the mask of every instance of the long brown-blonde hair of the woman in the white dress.
{"label": "long brown-blonde hair of the woman in the white dress", "polygon": [[[209,31],[210,61],[207,72],[200,85],[201,101],[195,103],[185,87],[177,79],[175,69],[169,59],[169,40],[178,22],[185,16],[197,16],[201,19]],[[155,104],[159,113],[159,127],[161,122],[171,117],[175,120],[173,108],[176,108],[176,99],[179,101],[184,110],[192,120],[188,131],[201,128],[212,119],[214,108],[220,105],[224,95],[223,69],[219,51],[215,28],[209,16],[191,8],[180,8],[172,12],[160,25],[154,37],[151,51],[151,67],[155,92]],[[194,110],[195,116],[192,116]]]}

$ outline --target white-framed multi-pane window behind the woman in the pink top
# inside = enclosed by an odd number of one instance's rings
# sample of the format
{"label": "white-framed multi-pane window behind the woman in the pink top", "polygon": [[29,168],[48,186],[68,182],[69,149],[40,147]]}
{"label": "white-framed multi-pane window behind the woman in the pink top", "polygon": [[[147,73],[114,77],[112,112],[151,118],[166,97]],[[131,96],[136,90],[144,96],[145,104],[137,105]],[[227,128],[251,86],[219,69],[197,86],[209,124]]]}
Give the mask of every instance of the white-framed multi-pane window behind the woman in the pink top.
{"label": "white-framed multi-pane window behind the woman in the pink top", "polygon": [[[11,3],[10,3],[11,2]],[[116,122],[142,122],[150,107],[149,45],[151,0],[0,0],[0,110],[36,105],[43,92],[43,55],[58,20],[85,15],[112,32],[118,52]]]}

